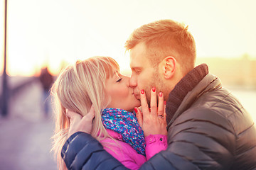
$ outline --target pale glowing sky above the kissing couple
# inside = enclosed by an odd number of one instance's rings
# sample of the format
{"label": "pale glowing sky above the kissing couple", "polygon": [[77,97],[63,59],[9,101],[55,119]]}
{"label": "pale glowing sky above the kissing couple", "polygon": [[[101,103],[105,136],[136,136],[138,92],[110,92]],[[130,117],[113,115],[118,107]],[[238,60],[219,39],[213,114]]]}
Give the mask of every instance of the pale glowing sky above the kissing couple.
{"label": "pale glowing sky above the kissing couple", "polygon": [[[4,0],[0,0],[0,74],[4,63]],[[254,0],[9,0],[8,72],[33,75],[43,64],[95,55],[129,69],[124,42],[135,28],[159,19],[188,25],[198,57],[256,58]]]}

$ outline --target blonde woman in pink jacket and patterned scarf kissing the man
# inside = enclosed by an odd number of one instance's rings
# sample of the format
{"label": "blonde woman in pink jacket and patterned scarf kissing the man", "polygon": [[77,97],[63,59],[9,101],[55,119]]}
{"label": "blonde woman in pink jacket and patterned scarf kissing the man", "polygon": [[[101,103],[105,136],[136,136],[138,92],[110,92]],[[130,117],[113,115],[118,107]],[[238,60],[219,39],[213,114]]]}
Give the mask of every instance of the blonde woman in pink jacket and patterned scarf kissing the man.
{"label": "blonde woman in pink jacket and patterned scarf kissing the man", "polygon": [[[156,89],[152,93],[156,94]],[[65,166],[60,156],[69,137],[67,110],[85,116],[93,106],[95,119],[91,135],[129,169],[139,169],[147,159],[167,147],[165,118],[159,119],[161,134],[144,137],[133,113],[141,103],[129,87],[129,77],[119,73],[119,65],[111,57],[91,57],[63,69],[53,84],[52,94],[56,106],[53,150],[59,169],[74,168],[72,162]],[[164,103],[162,94],[159,95],[160,101]]]}

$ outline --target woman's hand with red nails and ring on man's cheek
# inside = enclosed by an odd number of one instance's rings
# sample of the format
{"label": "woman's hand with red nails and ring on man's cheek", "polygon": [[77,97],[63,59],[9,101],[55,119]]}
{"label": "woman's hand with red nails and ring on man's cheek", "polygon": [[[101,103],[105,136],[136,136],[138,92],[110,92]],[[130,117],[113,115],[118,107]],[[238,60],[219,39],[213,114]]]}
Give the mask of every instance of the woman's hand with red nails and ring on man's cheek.
{"label": "woman's hand with red nails and ring on man's cheek", "polygon": [[144,131],[144,135],[167,135],[166,130],[166,104],[164,103],[164,94],[162,92],[159,93],[159,105],[157,107],[156,100],[156,88],[151,89],[151,100],[149,108],[146,102],[146,94],[144,90],[141,91],[141,103],[142,103],[142,111],[138,108],[134,108],[139,125],[142,127]]}

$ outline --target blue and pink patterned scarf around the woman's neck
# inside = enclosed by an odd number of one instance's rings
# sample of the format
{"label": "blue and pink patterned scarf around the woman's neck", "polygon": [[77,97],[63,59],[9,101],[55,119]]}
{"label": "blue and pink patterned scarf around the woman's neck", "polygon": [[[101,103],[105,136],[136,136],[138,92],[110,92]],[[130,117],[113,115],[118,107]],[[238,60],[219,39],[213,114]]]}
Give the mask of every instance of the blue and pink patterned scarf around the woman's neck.
{"label": "blue and pink patterned scarf around the woman's neck", "polygon": [[102,111],[102,123],[106,129],[121,134],[124,142],[139,154],[145,155],[144,132],[134,113],[119,108],[105,108]]}

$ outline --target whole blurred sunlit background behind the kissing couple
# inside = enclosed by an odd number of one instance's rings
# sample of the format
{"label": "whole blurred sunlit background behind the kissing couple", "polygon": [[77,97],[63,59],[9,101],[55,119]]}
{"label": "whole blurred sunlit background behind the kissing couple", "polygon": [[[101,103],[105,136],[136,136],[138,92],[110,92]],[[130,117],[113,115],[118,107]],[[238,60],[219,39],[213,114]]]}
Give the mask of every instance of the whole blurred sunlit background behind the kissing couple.
{"label": "whole blurred sunlit background behind the kissing couple", "polygon": [[113,57],[129,75],[124,42],[159,19],[188,25],[196,63],[208,64],[256,120],[254,0],[9,0],[5,6],[0,0],[0,169],[56,169],[49,84],[67,64],[95,55]]}

